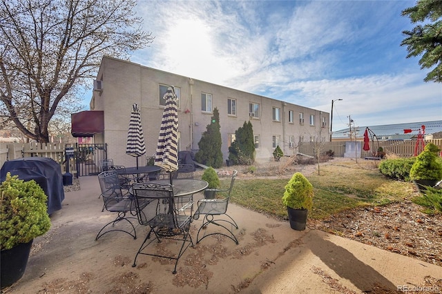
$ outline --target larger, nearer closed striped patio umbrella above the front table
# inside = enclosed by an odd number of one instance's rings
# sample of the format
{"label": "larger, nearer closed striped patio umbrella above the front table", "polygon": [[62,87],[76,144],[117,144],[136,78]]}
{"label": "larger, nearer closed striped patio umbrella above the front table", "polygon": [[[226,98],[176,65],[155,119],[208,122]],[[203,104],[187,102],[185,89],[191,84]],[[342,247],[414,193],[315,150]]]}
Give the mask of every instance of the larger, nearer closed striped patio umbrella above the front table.
{"label": "larger, nearer closed striped patio umbrella above the front table", "polygon": [[[161,119],[155,166],[161,166],[167,172],[172,173],[178,169],[177,95],[175,95],[173,86],[167,88],[163,99],[166,100],[166,107]],[[170,178],[172,179],[172,176]]]}

